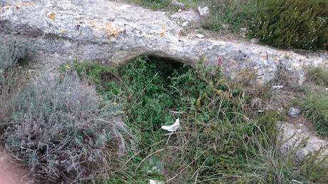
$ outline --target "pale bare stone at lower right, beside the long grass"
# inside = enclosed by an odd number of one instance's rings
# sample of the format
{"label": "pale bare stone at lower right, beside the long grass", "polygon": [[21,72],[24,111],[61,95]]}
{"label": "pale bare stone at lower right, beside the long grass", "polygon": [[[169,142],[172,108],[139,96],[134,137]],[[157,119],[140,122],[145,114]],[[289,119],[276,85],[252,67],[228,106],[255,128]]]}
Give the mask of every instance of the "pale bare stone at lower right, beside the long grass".
{"label": "pale bare stone at lower right, beside the long grass", "polygon": [[313,136],[306,127],[299,128],[291,123],[280,122],[280,141],[282,142],[282,152],[287,153],[290,149],[296,148],[299,144],[305,143],[305,146],[297,149],[295,159],[304,160],[307,155],[321,149],[319,156],[328,155],[328,143],[317,136]]}

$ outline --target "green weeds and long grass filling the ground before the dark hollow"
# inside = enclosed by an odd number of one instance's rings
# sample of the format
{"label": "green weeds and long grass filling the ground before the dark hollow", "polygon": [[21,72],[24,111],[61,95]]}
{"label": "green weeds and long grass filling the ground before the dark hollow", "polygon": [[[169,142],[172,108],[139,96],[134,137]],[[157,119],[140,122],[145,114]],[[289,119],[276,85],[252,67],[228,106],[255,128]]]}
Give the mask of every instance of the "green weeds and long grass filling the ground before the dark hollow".
{"label": "green weeds and long grass filling the ground before the dark hollow", "polygon": [[[327,183],[314,160],[294,162],[294,151],[279,151],[275,112],[250,116],[252,94],[230,85],[220,72],[138,57],[119,68],[76,63],[98,93],[121,104],[134,135],[120,170],[106,183]],[[220,68],[217,68],[220,71]],[[180,118],[181,128],[160,126]]]}

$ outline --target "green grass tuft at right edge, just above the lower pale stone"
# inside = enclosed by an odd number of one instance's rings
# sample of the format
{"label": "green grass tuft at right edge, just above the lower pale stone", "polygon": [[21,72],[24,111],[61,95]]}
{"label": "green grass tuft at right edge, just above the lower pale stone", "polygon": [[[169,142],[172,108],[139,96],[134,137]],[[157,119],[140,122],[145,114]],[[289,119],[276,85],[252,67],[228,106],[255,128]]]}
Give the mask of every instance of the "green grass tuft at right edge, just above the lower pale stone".
{"label": "green grass tuft at right edge, just above the lower pale stone", "polygon": [[308,94],[302,103],[305,116],[314,124],[320,136],[328,136],[328,96]]}

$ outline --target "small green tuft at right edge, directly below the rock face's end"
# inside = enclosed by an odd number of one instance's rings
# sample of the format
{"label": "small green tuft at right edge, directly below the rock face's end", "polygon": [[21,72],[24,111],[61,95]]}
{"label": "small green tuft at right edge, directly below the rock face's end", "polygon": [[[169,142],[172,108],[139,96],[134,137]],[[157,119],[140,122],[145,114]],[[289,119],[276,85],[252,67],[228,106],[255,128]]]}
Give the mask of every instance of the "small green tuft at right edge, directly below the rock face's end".
{"label": "small green tuft at right edge, directly below the rock face's end", "polygon": [[311,68],[307,72],[307,78],[317,85],[328,86],[328,69],[322,67]]}

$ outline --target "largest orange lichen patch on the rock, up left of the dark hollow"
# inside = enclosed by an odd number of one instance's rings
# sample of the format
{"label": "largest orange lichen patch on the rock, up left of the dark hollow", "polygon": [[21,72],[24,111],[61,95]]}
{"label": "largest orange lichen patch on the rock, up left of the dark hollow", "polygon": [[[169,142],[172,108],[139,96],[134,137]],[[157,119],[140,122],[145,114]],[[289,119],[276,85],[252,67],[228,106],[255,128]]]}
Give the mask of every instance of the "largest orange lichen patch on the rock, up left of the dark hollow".
{"label": "largest orange lichen patch on the rock, up left of the dark hollow", "polygon": [[105,24],[98,24],[97,22],[91,22],[89,24],[92,28],[98,29],[99,31],[103,31],[107,34],[108,39],[112,36],[116,37],[123,32],[123,29],[119,27],[117,24],[113,23],[105,23]]}

